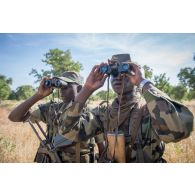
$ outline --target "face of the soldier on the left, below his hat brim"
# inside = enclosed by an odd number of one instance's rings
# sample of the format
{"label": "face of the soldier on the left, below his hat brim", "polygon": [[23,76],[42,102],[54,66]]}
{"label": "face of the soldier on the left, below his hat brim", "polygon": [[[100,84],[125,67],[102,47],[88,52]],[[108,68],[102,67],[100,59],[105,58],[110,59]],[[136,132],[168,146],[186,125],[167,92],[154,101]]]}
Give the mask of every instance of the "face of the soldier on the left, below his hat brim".
{"label": "face of the soldier on the left, below his hat brim", "polygon": [[74,100],[78,93],[78,85],[74,83],[68,83],[67,86],[61,88],[60,96],[64,102],[70,102]]}

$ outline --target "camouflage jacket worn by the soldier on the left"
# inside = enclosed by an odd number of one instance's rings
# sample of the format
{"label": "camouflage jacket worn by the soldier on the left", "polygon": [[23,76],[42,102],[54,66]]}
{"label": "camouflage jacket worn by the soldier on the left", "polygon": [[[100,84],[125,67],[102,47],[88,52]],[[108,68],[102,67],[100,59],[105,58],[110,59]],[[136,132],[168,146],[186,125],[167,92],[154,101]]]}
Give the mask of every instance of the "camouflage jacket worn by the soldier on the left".
{"label": "camouflage jacket worn by the soldier on the left", "polygon": [[[77,136],[73,132],[67,133],[64,137],[59,135],[59,116],[62,110],[68,108],[69,105],[55,102],[49,102],[39,105],[38,109],[31,111],[31,122],[42,121],[47,125],[47,136],[50,142],[58,149],[62,162],[75,162],[76,149],[75,144],[78,142]],[[65,139],[64,139],[65,138]],[[92,139],[86,139],[80,143],[81,162],[89,162],[89,145],[104,141],[103,134],[99,134]]]}

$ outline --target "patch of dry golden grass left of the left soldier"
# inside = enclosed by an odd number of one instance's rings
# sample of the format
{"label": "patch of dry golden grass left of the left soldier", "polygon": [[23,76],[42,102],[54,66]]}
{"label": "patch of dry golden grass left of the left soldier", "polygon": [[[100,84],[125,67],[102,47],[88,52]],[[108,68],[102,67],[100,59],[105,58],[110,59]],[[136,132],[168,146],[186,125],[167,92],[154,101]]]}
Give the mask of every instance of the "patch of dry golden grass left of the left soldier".
{"label": "patch of dry golden grass left of the left soldier", "polygon": [[14,102],[0,107],[0,162],[33,162],[39,142],[28,124],[8,119]]}

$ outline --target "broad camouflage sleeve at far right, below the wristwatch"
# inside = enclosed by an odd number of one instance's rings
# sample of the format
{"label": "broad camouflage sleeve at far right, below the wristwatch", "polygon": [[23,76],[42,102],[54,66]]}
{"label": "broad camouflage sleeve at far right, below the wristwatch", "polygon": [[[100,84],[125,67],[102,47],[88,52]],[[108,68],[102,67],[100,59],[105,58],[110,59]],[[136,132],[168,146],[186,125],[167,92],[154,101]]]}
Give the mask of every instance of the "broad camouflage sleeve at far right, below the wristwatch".
{"label": "broad camouflage sleeve at far right, below the wristwatch", "polygon": [[143,94],[156,134],[164,142],[177,142],[193,130],[193,114],[152,86]]}

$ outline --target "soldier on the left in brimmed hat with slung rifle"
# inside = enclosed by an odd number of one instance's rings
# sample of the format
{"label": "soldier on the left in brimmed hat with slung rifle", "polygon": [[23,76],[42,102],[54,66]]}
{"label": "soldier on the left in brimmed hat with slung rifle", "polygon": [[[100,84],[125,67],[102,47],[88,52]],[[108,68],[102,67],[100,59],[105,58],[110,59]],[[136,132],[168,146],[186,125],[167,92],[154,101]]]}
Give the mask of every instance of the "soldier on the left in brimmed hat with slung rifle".
{"label": "soldier on the left in brimmed hat with slung rifle", "polygon": [[[47,97],[53,92],[53,87],[45,86],[47,77],[43,78],[38,88],[38,91],[29,99],[18,105],[9,115],[9,119],[13,122],[30,121],[30,124],[42,121],[47,125],[47,139],[57,148],[57,153],[60,162],[92,162],[94,157],[94,138],[87,139],[80,142],[79,139],[72,136],[72,133],[67,133],[64,137],[60,136],[59,130],[59,116],[62,110],[71,106],[75,96],[81,90],[81,77],[75,72],[67,71],[63,73],[62,77],[55,77],[61,82],[65,82],[60,88],[60,95],[62,102],[49,102],[39,105],[38,109],[30,111],[29,109],[39,100]],[[32,126],[32,125],[31,125]],[[96,137],[99,150],[103,149],[103,136]],[[53,162],[52,155],[45,148],[40,145],[35,162]]]}

